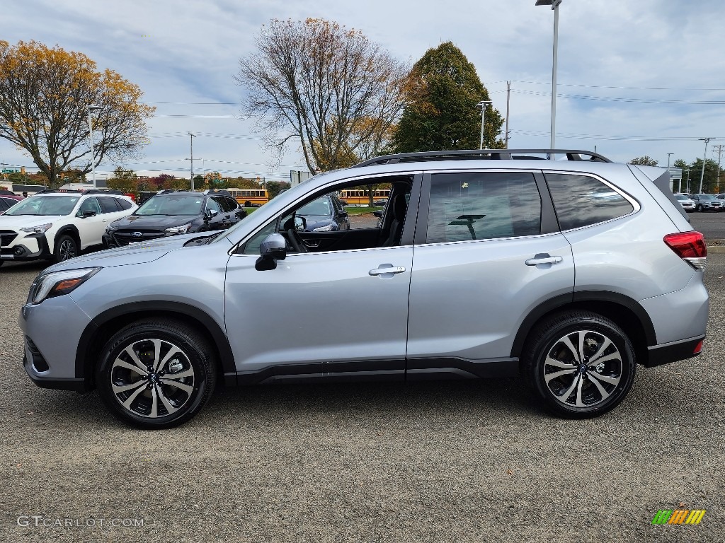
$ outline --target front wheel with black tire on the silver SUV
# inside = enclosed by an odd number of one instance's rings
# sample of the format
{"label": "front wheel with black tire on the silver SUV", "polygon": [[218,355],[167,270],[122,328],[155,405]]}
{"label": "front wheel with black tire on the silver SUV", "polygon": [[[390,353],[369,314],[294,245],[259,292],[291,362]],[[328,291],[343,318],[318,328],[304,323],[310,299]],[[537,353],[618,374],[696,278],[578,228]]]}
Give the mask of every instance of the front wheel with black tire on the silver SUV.
{"label": "front wheel with black tire on the silver SUV", "polygon": [[216,368],[214,350],[199,332],[173,320],[142,319],[106,343],[96,367],[96,386],[121,421],[144,429],[171,428],[207,403],[215,389]]}

